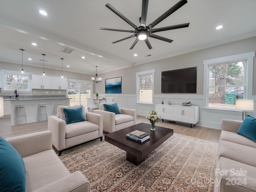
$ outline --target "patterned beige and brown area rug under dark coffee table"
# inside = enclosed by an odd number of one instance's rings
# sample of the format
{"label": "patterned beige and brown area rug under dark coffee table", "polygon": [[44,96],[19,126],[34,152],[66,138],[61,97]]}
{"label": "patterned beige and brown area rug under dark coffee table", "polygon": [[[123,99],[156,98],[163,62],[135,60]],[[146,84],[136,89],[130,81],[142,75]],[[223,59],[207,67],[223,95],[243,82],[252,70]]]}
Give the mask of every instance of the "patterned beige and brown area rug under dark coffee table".
{"label": "patterned beige and brown area rug under dark coffee table", "polygon": [[217,146],[174,133],[138,166],[104,140],[66,150],[60,159],[88,178],[92,192],[212,192]]}

